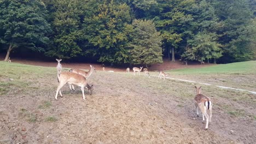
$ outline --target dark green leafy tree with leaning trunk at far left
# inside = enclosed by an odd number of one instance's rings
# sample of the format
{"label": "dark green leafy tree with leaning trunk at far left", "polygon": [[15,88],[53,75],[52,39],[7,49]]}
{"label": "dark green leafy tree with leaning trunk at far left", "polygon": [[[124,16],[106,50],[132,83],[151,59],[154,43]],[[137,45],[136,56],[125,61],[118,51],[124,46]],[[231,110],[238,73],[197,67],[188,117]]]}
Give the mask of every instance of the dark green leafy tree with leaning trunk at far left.
{"label": "dark green leafy tree with leaning trunk at far left", "polygon": [[51,32],[45,20],[45,5],[40,0],[0,1],[0,43],[9,45],[4,61],[15,48],[44,51]]}

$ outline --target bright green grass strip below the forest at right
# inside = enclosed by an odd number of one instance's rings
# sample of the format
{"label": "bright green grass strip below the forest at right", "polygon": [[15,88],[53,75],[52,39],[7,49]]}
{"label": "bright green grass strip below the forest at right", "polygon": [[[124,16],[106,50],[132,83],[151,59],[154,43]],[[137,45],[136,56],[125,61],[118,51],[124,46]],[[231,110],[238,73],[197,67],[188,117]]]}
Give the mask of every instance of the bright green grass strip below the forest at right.
{"label": "bright green grass strip below the forest at right", "polygon": [[256,71],[256,61],[218,64],[204,68],[186,68],[170,70],[171,74],[253,74]]}

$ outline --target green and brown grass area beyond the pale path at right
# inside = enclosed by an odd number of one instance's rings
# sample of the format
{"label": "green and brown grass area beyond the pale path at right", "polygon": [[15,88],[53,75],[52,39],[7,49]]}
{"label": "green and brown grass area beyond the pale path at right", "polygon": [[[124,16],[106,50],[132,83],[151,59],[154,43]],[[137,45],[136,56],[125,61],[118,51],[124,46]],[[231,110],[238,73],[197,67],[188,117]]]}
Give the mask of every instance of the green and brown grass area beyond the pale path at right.
{"label": "green and brown grass area beyond the pale path at right", "polygon": [[[165,71],[169,77],[256,91],[256,61]],[[158,75],[158,73],[150,73]]]}

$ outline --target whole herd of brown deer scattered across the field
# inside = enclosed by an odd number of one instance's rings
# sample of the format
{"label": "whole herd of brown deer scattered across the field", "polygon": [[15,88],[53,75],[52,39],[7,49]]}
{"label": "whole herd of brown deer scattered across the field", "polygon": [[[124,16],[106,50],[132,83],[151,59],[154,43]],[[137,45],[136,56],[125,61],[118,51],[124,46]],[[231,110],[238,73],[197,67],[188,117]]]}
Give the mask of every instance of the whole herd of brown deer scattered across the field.
{"label": "whole herd of brown deer scattered across the field", "polygon": [[[83,93],[83,99],[85,100],[85,95],[84,95],[84,88],[88,89],[89,94],[92,94],[92,91],[94,90],[94,86],[93,85],[89,85],[87,79],[91,76],[91,74],[96,70],[94,68],[94,66],[90,65],[90,70],[89,71],[84,71],[84,70],[80,70],[80,69],[75,69],[72,68],[69,71],[61,71],[62,69],[62,65],[61,65],[61,61],[62,59],[56,59],[56,61],[58,62],[57,64],[57,81],[59,82],[59,85],[57,87],[57,91],[56,91],[56,95],[55,95],[55,99],[57,100],[57,96],[58,93],[61,95],[62,97],[62,93],[61,93],[61,88],[66,85],[66,83],[68,83],[69,88],[72,90],[74,90],[74,85],[75,86],[79,86],[81,88],[81,91]],[[141,75],[140,72],[142,70],[143,67],[133,67],[133,75],[135,75],[135,72],[137,72],[137,75]],[[103,71],[106,71],[106,69],[103,67],[102,68]],[[144,73],[146,75],[149,75],[148,73],[148,69],[144,68],[143,69]],[[110,70],[110,72],[114,72],[112,70]],[[126,68],[126,73],[130,73],[130,68]],[[167,74],[164,73],[164,71],[159,71],[159,79],[162,79],[162,77],[165,80],[165,77],[167,76]],[[208,123],[211,122],[212,119],[212,101],[210,98],[206,97],[205,95],[201,94],[201,87],[196,87],[196,95],[194,98],[194,103],[195,103],[195,107],[196,107],[196,114],[197,117],[199,117],[199,111],[198,109],[200,109],[201,113],[202,113],[202,121],[203,123],[205,123],[205,118],[206,118],[206,127],[205,129],[208,129]],[[207,111],[210,111],[210,115],[208,115]]]}

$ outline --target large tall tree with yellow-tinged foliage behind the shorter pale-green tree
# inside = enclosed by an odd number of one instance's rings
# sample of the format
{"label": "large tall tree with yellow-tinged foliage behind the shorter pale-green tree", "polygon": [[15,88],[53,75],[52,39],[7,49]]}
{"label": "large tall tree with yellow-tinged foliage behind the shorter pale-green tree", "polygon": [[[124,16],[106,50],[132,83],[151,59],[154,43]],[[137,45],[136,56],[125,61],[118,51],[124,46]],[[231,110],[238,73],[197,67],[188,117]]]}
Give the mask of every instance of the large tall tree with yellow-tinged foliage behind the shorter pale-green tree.
{"label": "large tall tree with yellow-tinged foliage behind the shorter pale-green tree", "polygon": [[128,5],[104,0],[95,14],[84,20],[84,37],[91,47],[88,52],[98,57],[100,62],[129,63],[130,23]]}

